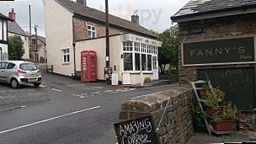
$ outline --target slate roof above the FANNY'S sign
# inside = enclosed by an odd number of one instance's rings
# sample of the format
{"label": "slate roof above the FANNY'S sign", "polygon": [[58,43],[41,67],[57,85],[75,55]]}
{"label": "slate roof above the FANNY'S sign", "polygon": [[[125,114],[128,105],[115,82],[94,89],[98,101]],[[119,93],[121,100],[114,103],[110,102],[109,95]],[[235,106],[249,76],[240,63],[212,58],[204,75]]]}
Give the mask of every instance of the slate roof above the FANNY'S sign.
{"label": "slate roof above the FANNY'S sign", "polygon": [[171,19],[199,16],[207,13],[229,12],[256,8],[255,0],[190,0],[183,8],[175,13]]}

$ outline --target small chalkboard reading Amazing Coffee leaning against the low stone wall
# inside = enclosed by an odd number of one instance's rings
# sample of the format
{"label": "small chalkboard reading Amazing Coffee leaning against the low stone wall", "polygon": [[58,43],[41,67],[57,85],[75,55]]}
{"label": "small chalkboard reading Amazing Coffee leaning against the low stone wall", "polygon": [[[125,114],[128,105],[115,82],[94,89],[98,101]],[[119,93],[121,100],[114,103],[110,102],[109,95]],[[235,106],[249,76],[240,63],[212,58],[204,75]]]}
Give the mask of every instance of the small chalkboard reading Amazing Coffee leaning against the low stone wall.
{"label": "small chalkboard reading Amazing Coffee leaning against the low stone wall", "polygon": [[114,126],[119,144],[159,144],[151,115],[116,123]]}

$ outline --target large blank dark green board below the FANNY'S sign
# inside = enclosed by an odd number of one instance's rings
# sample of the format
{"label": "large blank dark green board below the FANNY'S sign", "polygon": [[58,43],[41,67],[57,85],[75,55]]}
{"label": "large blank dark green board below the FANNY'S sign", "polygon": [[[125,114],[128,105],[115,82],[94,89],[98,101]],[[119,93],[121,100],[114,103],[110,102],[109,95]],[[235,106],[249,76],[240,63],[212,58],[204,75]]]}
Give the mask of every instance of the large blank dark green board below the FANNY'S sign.
{"label": "large blank dark green board below the FANNY'S sign", "polygon": [[256,104],[254,67],[217,68],[198,70],[198,79],[210,80],[213,87],[225,92],[225,100],[237,109],[251,111]]}

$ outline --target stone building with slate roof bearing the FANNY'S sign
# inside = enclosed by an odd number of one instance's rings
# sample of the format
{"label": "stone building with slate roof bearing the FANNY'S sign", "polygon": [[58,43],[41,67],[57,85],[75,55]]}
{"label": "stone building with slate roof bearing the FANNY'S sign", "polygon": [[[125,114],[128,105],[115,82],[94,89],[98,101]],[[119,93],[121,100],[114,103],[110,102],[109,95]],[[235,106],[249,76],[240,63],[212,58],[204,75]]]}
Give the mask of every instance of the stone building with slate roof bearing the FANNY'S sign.
{"label": "stone building with slate roof bearing the FANNY'S sign", "polygon": [[[256,1],[191,0],[171,19],[179,24],[179,83],[211,80],[226,100],[252,111]],[[240,122],[252,130],[251,117],[243,116]]]}

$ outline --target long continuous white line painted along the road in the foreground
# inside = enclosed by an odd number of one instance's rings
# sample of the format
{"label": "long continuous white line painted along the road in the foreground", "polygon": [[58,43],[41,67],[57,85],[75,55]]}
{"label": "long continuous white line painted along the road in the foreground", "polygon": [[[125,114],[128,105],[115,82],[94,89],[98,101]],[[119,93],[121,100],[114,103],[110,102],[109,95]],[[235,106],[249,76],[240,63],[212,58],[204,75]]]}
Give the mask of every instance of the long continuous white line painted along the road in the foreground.
{"label": "long continuous white line painted along the road in the foreground", "polygon": [[45,123],[45,122],[48,122],[48,121],[51,121],[51,120],[60,119],[62,117],[66,117],[66,116],[69,116],[69,115],[75,115],[75,114],[82,113],[82,112],[85,112],[85,111],[88,111],[88,110],[99,109],[99,108],[100,108],[100,106],[95,106],[95,107],[88,108],[88,109],[82,109],[82,110],[79,110],[79,111],[74,111],[72,113],[68,113],[68,114],[65,114],[65,115],[59,115],[59,116],[56,116],[56,117],[53,117],[53,118],[50,118],[50,119],[47,119],[47,120],[40,120],[40,121],[37,121],[37,122],[29,124],[29,125],[22,125],[22,126],[15,127],[13,129],[9,129],[9,130],[6,130],[6,131],[0,131],[0,135],[4,134],[6,132],[16,131],[16,130],[19,130],[19,129],[23,129],[25,127],[29,127],[29,126],[33,126],[33,125],[38,125],[40,123]]}

